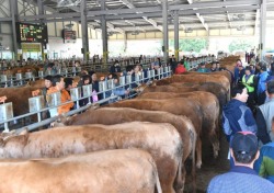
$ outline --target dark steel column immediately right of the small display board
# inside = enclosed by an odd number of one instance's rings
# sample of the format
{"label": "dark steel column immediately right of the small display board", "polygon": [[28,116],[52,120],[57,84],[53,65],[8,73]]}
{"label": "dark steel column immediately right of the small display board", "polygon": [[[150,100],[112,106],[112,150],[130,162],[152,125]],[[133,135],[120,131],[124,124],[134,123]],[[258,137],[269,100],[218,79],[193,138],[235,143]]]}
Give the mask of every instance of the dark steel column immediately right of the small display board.
{"label": "dark steel column immediately right of the small display board", "polygon": [[82,29],[82,54],[83,61],[89,60],[89,34],[88,34],[88,21],[87,21],[87,0],[81,1],[81,29]]}

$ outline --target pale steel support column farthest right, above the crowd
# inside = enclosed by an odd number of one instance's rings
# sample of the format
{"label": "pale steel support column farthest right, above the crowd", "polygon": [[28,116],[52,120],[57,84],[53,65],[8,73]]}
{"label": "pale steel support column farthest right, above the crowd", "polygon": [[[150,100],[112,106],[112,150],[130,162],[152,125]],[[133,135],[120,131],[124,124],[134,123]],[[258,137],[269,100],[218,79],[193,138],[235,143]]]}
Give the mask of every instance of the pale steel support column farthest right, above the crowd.
{"label": "pale steel support column farthest right, above the crowd", "polygon": [[266,27],[266,0],[262,0],[261,4],[261,25],[260,25],[260,54],[261,60],[265,50],[265,29]]}

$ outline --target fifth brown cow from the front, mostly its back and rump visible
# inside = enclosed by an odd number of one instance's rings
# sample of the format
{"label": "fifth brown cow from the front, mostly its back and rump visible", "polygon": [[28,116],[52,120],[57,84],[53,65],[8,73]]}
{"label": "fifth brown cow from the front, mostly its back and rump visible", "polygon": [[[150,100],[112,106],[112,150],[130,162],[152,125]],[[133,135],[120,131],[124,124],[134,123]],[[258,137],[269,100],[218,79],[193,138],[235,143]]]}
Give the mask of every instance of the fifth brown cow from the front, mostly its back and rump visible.
{"label": "fifth brown cow from the front, mostly its back and rump visible", "polygon": [[[219,102],[217,98],[203,91],[186,92],[186,93],[170,93],[170,92],[147,92],[138,96],[139,99],[173,99],[173,98],[190,98],[199,102],[203,110],[203,134],[208,135],[212,141],[214,156],[218,156],[219,140],[218,140],[218,126],[219,126]],[[203,135],[203,136],[205,136]],[[202,140],[202,136],[197,136]]]}

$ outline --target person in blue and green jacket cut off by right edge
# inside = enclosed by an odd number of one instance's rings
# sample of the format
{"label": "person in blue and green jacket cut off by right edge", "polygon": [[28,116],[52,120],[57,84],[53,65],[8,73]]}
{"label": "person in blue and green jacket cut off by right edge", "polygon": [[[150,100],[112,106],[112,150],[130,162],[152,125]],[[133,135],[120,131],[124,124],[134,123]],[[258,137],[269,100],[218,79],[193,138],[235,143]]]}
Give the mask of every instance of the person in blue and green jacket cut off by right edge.
{"label": "person in blue and green jacket cut off by right edge", "polygon": [[[272,118],[272,132],[274,132],[274,116]],[[261,177],[274,183],[274,143],[262,146],[254,169]]]}

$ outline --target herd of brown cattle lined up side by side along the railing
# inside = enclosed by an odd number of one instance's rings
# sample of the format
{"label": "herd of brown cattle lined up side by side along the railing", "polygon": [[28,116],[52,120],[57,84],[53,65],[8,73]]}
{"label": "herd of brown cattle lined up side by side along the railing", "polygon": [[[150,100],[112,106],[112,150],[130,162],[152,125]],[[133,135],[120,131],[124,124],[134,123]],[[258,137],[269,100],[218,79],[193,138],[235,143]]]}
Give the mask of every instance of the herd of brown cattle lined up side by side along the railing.
{"label": "herd of brown cattle lined up side by side along the railing", "polygon": [[[237,59],[221,64],[228,69]],[[184,190],[187,159],[195,192],[202,143],[209,146],[205,138],[218,156],[220,112],[230,86],[228,70],[175,75],[139,87],[136,99],[60,116],[54,128],[2,134],[0,192],[178,193]],[[22,98],[35,89],[4,88],[0,95],[23,114]]]}

